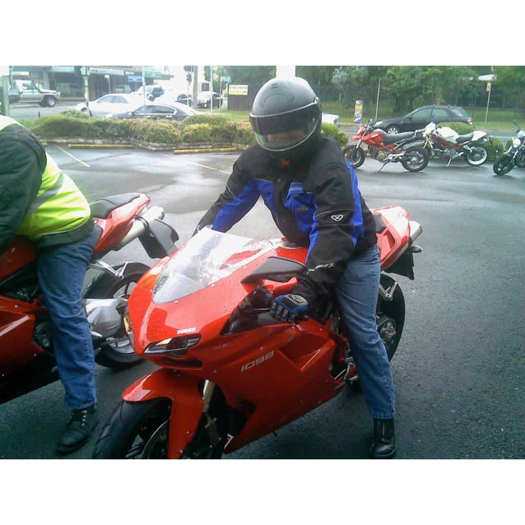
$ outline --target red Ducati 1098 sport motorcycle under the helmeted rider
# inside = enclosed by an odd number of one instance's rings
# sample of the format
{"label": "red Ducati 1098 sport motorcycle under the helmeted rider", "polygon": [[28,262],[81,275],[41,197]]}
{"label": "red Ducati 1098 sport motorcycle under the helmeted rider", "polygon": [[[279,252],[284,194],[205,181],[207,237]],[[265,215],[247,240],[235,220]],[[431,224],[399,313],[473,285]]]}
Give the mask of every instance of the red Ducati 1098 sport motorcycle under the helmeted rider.
{"label": "red Ducati 1098 sport motorcycle under the helmeted rider", "polygon": [[[414,278],[413,241],[422,228],[398,206],[374,211],[387,272]],[[102,429],[97,459],[218,459],[339,394],[357,379],[328,298],[308,319],[270,316],[290,292],[307,248],[202,229],[139,281],[129,299],[128,335],[160,369],[123,393]],[[388,358],[401,338],[403,293],[381,275],[377,325]]]}

